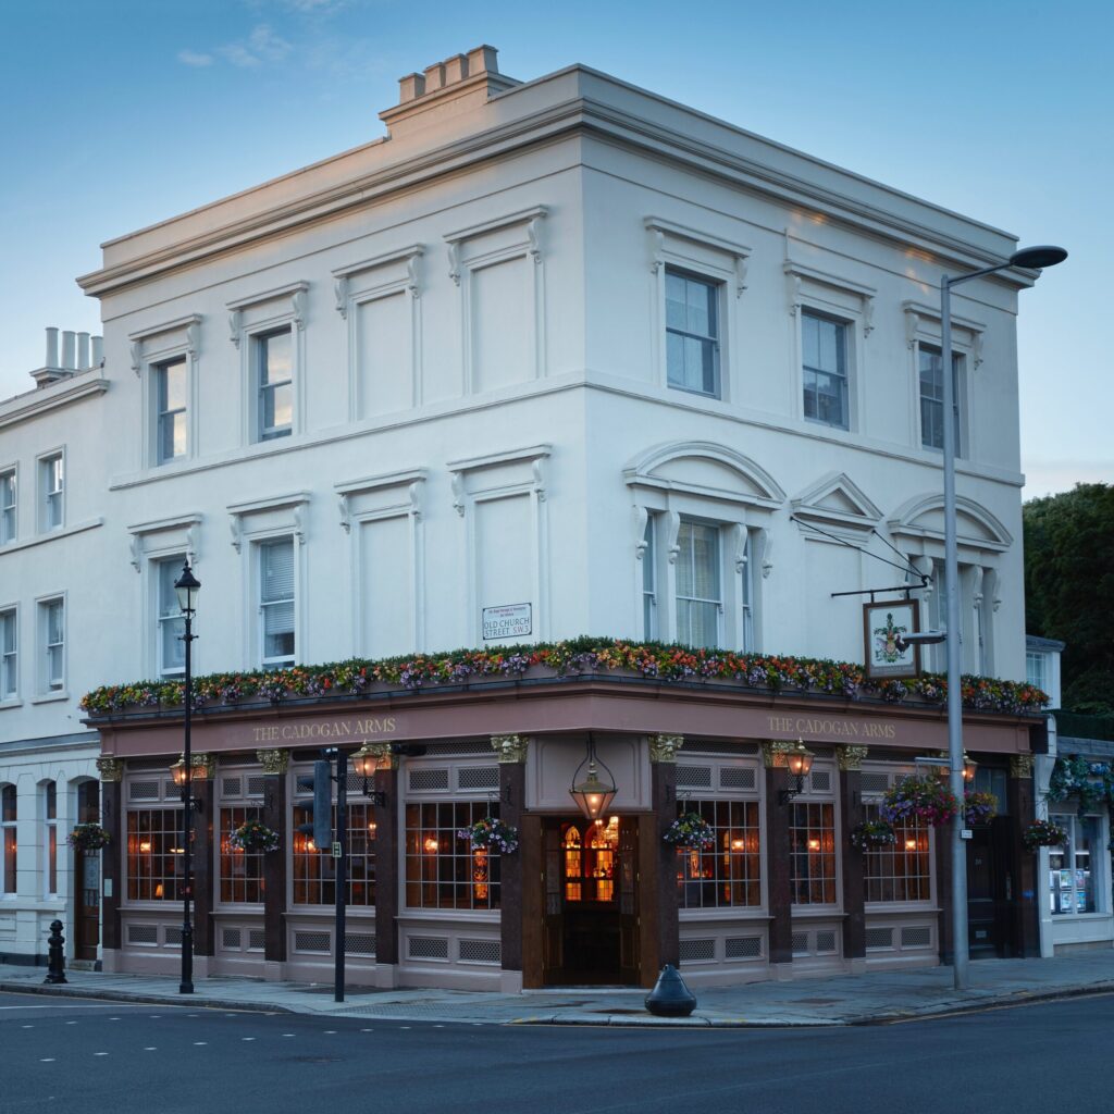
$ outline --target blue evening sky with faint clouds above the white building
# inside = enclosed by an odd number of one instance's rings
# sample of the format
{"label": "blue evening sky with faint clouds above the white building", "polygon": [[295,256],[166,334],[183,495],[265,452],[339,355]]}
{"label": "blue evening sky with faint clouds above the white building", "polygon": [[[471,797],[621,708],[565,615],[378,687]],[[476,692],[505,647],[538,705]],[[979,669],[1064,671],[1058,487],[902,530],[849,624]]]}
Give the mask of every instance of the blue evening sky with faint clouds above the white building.
{"label": "blue evening sky with faint clouds above the white building", "polygon": [[480,43],[582,62],[1071,255],[1020,295],[1025,497],[1114,482],[1108,0],[0,0],[0,399],[106,240],[383,134]]}

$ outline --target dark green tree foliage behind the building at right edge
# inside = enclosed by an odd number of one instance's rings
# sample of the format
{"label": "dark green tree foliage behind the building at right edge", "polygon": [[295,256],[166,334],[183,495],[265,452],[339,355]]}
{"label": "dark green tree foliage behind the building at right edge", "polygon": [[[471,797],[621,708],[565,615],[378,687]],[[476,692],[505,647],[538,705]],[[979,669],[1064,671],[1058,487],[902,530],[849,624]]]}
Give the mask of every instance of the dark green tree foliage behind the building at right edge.
{"label": "dark green tree foliage behind the building at right edge", "polygon": [[1066,643],[1065,710],[1114,713],[1114,487],[1077,483],[1022,516],[1026,629]]}

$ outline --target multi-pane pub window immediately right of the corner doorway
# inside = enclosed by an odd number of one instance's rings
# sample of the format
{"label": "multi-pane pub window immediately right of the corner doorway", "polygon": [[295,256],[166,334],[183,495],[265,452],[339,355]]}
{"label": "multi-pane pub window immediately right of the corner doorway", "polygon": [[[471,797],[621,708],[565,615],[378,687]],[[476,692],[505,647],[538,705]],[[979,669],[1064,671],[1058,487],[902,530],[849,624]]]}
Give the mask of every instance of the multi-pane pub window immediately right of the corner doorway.
{"label": "multi-pane pub window immediately right of the corner doorway", "polygon": [[697,812],[715,831],[706,850],[677,849],[682,909],[762,903],[762,836],[758,801],[678,801],[677,815]]}

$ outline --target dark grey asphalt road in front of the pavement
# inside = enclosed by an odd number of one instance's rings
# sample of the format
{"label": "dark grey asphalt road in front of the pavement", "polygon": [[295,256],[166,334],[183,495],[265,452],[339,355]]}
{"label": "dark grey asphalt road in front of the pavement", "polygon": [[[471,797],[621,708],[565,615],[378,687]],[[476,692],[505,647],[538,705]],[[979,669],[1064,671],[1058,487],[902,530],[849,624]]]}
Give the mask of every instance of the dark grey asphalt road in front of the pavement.
{"label": "dark grey asphalt road in front of the pavement", "polygon": [[497,1027],[0,995],[0,1114],[1114,1108],[1114,997],[866,1028]]}

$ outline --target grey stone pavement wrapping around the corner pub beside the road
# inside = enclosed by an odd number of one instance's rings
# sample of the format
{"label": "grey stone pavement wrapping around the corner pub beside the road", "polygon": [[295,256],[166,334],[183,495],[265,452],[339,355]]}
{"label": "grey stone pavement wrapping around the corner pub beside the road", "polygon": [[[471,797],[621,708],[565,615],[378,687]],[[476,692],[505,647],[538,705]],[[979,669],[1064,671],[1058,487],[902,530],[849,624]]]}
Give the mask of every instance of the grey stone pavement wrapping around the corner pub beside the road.
{"label": "grey stone pavement wrapping around the corner pub beside the road", "polygon": [[970,987],[956,990],[950,967],[872,971],[694,987],[690,1017],[655,1017],[646,990],[568,987],[494,994],[463,990],[350,987],[342,1003],[331,984],[270,983],[248,978],[198,979],[192,997],[176,977],[67,970],[63,986],[47,985],[45,967],[0,965],[0,991],[189,1005],[190,1008],[303,1014],[321,1017],[463,1023],[472,1025],[616,1025],[776,1028],[885,1024],[1114,993],[1114,949],[1054,959],[973,962]]}

